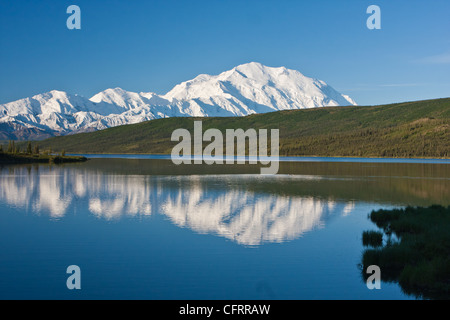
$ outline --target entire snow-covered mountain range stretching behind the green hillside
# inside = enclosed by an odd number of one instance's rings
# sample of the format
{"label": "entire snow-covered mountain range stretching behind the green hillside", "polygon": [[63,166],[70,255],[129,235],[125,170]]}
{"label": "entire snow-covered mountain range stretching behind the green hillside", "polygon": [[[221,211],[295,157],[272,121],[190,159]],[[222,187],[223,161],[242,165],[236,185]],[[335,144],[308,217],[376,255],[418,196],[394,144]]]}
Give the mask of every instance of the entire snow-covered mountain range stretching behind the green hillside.
{"label": "entire snow-covered mountain range stretching behind the green hillside", "polygon": [[0,105],[1,139],[40,139],[165,117],[245,116],[278,110],[356,105],[321,80],[251,62],[201,74],[165,95],[107,89],[87,99],[53,90]]}

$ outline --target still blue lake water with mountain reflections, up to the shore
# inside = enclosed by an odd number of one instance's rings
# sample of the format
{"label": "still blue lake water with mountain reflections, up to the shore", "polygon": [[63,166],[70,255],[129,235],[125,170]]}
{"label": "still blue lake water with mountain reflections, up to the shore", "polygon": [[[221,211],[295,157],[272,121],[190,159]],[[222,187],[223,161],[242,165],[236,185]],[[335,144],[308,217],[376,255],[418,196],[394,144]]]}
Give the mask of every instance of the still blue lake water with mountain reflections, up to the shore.
{"label": "still blue lake water with mountain reflections, up to the shore", "polygon": [[374,209],[449,205],[450,162],[285,160],[0,167],[0,299],[413,299],[366,287],[361,234]]}

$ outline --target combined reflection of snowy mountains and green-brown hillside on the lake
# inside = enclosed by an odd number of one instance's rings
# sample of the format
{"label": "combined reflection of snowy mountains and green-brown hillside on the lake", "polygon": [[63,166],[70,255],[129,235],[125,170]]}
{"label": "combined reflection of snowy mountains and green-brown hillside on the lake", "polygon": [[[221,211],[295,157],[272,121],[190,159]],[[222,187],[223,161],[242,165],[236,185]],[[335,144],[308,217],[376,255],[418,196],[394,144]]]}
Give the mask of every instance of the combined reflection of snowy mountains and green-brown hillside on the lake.
{"label": "combined reflection of snowy mountains and green-brown hillside on the lake", "polygon": [[[211,174],[188,175],[191,167]],[[244,175],[243,166],[191,167],[117,159],[9,166],[0,169],[0,199],[55,218],[71,207],[105,219],[162,213],[178,226],[248,245],[297,238],[334,212],[347,214],[355,200],[449,204],[447,165],[288,163],[272,177]]]}

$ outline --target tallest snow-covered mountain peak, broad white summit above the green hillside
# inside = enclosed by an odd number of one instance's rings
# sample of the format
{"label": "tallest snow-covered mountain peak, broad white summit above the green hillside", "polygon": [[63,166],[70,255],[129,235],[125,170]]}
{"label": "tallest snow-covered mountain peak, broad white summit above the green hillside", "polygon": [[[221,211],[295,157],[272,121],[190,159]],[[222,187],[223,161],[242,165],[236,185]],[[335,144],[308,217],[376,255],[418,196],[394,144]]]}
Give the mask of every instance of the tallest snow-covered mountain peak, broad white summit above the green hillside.
{"label": "tallest snow-covered mountain peak, broad white summit above the green hillside", "polygon": [[[171,101],[195,100],[205,107],[223,105],[224,99],[231,99],[232,103],[226,110],[238,116],[355,104],[323,81],[286,67],[267,67],[259,62],[241,64],[216,76],[200,75],[177,85],[165,98]],[[209,114],[206,110],[205,113]]]}

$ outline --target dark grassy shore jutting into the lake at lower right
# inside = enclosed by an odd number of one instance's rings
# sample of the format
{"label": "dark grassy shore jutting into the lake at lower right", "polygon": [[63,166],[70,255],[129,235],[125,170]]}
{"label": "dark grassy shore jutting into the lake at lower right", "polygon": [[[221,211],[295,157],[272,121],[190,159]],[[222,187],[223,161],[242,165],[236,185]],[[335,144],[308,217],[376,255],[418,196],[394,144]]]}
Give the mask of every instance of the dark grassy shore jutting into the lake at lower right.
{"label": "dark grassy shore jutting into the lake at lower right", "polygon": [[363,244],[371,247],[362,255],[364,278],[368,266],[378,265],[382,280],[398,282],[407,294],[450,299],[450,206],[378,210],[370,219],[386,240],[384,246],[373,246],[369,233],[363,236]]}

